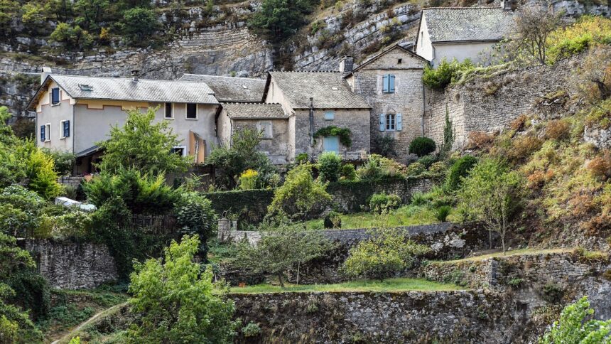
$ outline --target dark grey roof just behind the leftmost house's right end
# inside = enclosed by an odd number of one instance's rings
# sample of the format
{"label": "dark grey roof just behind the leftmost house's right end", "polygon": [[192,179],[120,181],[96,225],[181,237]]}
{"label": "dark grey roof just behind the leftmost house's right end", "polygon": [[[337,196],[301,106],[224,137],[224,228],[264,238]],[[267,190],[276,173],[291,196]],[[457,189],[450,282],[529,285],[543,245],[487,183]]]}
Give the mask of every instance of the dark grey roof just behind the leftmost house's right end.
{"label": "dark grey roof just behind the leftmost house's right end", "polygon": [[183,74],[179,81],[205,82],[219,102],[262,102],[265,80],[247,77]]}

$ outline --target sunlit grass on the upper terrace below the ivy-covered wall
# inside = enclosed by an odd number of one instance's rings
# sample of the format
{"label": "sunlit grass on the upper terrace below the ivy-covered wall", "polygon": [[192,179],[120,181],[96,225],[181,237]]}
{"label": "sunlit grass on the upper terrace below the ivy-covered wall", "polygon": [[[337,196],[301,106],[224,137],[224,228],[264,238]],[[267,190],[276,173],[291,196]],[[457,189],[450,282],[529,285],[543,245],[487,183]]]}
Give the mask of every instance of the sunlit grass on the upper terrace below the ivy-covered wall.
{"label": "sunlit grass on the upper terrace below the ivy-covered wall", "polygon": [[[381,217],[374,213],[342,214],[342,229],[370,228],[379,227],[384,223],[389,227],[411,226],[411,225],[430,225],[439,222],[435,216],[435,210],[422,205],[404,205],[403,207],[391,211],[389,215]],[[458,220],[455,210],[450,211],[447,221]],[[310,220],[305,222],[309,229],[323,229],[323,219]]]}

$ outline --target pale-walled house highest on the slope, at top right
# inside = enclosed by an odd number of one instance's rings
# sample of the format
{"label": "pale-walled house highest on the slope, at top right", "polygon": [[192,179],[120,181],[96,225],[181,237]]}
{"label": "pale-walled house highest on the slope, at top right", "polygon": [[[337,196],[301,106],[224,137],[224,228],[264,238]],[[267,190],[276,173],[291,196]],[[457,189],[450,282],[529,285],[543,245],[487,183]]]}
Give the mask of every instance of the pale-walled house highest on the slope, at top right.
{"label": "pale-walled house highest on the slope, at top right", "polygon": [[512,9],[512,1],[500,7],[423,9],[415,51],[434,67],[444,58],[485,64],[494,46],[514,30]]}

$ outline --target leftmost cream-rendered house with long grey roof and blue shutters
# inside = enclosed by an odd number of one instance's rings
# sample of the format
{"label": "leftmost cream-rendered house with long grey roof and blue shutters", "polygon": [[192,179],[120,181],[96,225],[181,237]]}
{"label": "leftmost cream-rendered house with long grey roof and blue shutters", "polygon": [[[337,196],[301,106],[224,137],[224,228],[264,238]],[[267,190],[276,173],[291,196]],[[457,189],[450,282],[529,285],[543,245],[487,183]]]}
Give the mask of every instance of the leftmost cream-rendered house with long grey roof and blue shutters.
{"label": "leftmost cream-rendered house with long grey roof and blue shutters", "polygon": [[28,109],[36,111],[36,144],[77,156],[75,174],[92,173],[96,142],[122,126],[126,111],[156,109],[155,121],[170,122],[182,145],[173,151],[202,163],[215,143],[219,102],[205,83],[51,74],[45,68]]}

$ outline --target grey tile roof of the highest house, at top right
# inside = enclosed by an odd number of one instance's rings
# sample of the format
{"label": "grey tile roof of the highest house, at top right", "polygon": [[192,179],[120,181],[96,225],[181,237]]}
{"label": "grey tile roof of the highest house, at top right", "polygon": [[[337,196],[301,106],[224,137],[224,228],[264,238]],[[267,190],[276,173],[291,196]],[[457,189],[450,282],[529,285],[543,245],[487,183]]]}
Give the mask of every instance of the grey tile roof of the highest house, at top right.
{"label": "grey tile roof of the highest house, at top right", "polygon": [[514,28],[514,14],[499,7],[423,9],[433,42],[500,41]]}

